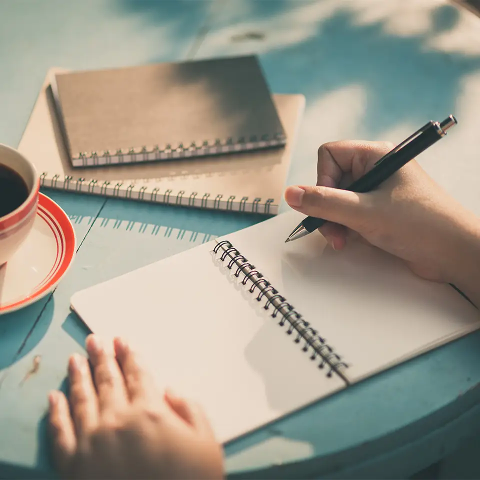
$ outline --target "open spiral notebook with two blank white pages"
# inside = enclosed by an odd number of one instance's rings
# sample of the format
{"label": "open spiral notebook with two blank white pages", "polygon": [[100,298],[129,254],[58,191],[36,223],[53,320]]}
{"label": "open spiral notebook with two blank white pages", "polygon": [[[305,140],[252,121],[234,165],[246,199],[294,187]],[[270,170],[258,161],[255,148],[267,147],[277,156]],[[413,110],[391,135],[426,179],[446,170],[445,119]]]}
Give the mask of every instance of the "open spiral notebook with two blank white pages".
{"label": "open spiral notebook with two blank white pages", "polygon": [[200,402],[227,442],[480,326],[446,284],[319,233],[284,243],[279,214],[75,293],[105,339],[138,349],[160,386]]}

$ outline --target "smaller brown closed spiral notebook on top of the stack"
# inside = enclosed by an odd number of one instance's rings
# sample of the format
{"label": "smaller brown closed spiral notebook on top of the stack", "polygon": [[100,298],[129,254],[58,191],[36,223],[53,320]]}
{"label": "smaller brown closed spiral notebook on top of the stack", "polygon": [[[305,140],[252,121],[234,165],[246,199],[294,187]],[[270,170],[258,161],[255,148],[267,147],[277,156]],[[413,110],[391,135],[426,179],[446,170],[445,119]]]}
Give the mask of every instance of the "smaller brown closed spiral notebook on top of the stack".
{"label": "smaller brown closed spiral notebook on top of the stack", "polygon": [[52,82],[73,166],[284,145],[255,56],[62,72]]}

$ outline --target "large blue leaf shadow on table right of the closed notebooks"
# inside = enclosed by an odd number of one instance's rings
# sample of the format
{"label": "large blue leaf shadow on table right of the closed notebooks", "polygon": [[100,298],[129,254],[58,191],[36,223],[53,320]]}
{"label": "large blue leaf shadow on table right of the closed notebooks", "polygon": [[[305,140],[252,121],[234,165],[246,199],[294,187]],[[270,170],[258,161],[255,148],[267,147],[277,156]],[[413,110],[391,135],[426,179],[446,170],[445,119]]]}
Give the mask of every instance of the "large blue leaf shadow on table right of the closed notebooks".
{"label": "large blue leaf shadow on table right of the closed notebooks", "polygon": [[[430,20],[424,32],[399,35],[385,31],[381,19],[362,23],[354,12],[338,8],[318,21],[311,37],[262,53],[262,65],[273,91],[301,91],[307,109],[333,91],[360,87],[365,98],[357,128],[374,138],[405,122],[454,112],[463,78],[480,68],[478,55],[429,46],[457,26],[456,8],[438,6]],[[435,78],[441,92],[432,87]],[[328,140],[336,138],[322,139]]]}

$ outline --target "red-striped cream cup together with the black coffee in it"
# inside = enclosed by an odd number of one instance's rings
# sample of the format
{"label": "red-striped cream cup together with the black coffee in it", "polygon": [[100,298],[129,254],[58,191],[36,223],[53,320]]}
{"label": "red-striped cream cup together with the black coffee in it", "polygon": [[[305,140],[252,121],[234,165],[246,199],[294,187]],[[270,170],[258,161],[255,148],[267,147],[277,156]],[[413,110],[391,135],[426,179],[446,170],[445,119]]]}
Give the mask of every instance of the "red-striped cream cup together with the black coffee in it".
{"label": "red-striped cream cup together with the black coffee in it", "polygon": [[39,184],[31,161],[0,143],[0,266],[18,250],[33,226]]}

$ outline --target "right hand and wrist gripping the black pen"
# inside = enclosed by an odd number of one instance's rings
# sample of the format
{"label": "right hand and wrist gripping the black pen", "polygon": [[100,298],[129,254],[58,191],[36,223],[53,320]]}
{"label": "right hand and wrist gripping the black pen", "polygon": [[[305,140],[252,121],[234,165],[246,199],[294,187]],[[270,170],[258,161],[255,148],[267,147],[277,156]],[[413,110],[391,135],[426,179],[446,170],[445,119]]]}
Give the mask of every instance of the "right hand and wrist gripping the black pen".
{"label": "right hand and wrist gripping the black pen", "polygon": [[[444,132],[447,125],[433,128]],[[305,215],[327,220],[320,231],[334,249],[341,250],[354,232],[403,260],[416,275],[453,284],[480,307],[480,217],[440,188],[415,160],[369,192],[338,187],[350,173],[353,180],[362,177],[390,150],[392,145],[381,141],[326,143],[318,149],[318,186],[287,187],[285,200]],[[475,161],[474,152],[451,158],[451,175],[465,177]]]}

